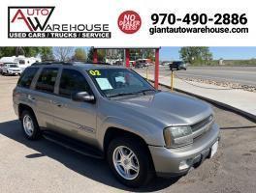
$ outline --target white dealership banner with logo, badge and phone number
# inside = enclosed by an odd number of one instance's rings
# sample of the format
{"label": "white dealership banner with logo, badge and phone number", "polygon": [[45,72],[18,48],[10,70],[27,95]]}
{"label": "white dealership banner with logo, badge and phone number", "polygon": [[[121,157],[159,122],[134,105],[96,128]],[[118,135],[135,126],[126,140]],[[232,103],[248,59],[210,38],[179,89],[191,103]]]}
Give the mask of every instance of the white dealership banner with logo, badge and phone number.
{"label": "white dealership banner with logo, badge and phone number", "polygon": [[254,1],[1,0],[0,45],[255,45]]}

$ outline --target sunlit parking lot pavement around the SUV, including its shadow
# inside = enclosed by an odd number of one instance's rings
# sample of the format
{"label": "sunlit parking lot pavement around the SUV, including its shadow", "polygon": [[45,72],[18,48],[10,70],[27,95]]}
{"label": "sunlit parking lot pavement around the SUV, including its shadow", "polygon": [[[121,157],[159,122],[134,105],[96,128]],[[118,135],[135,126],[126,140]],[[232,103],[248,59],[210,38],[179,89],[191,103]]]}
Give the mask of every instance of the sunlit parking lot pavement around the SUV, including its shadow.
{"label": "sunlit parking lot pavement around the SUV, including its shadow", "polygon": [[[24,139],[12,106],[16,76],[0,76],[0,192],[255,192],[256,124],[213,106],[221,126],[217,154],[180,179],[156,179],[130,189],[113,178],[106,161],[45,139]],[[254,104],[252,104],[254,105]]]}

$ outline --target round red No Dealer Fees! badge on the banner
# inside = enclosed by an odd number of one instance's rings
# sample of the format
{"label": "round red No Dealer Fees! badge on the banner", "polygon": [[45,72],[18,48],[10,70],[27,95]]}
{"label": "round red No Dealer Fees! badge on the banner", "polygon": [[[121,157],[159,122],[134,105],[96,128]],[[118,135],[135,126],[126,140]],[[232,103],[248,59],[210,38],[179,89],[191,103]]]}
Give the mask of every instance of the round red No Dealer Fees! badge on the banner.
{"label": "round red No Dealer Fees! badge on the banner", "polygon": [[117,25],[122,32],[134,34],[141,28],[142,19],[134,11],[125,11],[119,15]]}

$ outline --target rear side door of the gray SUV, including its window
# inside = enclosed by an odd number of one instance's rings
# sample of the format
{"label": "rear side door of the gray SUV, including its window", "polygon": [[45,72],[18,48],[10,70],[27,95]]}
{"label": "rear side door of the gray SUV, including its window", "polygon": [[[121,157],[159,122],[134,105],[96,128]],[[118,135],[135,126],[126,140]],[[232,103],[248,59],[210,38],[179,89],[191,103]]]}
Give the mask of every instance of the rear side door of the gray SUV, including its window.
{"label": "rear side door of the gray SUV, including its window", "polygon": [[35,90],[29,96],[36,103],[39,124],[42,127],[51,128],[54,116],[54,86],[57,79],[58,68],[42,69],[35,84]]}

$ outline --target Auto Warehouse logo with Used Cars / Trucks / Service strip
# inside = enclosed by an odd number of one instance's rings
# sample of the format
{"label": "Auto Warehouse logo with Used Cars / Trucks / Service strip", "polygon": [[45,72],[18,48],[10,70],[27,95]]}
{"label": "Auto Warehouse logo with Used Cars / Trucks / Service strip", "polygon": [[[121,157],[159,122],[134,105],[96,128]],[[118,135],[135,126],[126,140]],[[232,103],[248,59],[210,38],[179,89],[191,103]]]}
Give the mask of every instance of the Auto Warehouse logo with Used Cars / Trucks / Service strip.
{"label": "Auto Warehouse logo with Used Cars / Trucks / Service strip", "polygon": [[10,39],[110,39],[108,23],[51,23],[55,7],[8,7]]}

